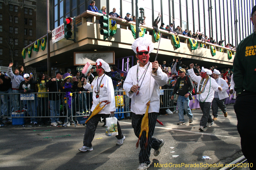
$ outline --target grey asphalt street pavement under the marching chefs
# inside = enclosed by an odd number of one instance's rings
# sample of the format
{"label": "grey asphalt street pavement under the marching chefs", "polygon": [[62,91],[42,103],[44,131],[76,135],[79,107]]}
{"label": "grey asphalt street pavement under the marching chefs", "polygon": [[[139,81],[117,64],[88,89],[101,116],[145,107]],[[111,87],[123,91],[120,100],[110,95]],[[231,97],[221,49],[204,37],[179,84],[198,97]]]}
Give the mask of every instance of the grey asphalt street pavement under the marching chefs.
{"label": "grey asphalt street pavement under the marching chefs", "polygon": [[[151,150],[151,165],[148,169],[220,169],[220,167],[208,166],[214,163],[215,166],[221,164],[225,166],[241,157],[243,154],[240,136],[236,129],[237,119],[233,104],[227,105],[227,108],[228,117],[225,118],[219,109],[218,120],[204,132],[198,130],[202,117],[200,109],[192,110],[194,121],[191,124],[188,123],[188,116],[184,116],[185,125],[177,125],[178,114],[159,115],[158,120],[163,122],[164,126],[157,123],[154,136],[163,139],[165,143],[157,157],[153,155],[154,150]],[[131,122],[131,119],[119,121],[126,137],[122,145],[116,145],[116,137],[105,136],[105,128],[101,127],[103,123],[100,122],[92,141],[91,152],[78,151],[83,146],[85,131],[83,125],[65,128],[38,125],[28,127],[26,124],[25,129],[19,125],[7,125],[0,128],[0,168],[1,170],[136,169],[139,166],[140,149],[136,149],[138,138],[134,135]],[[203,156],[208,156],[210,159],[202,159]],[[161,167],[160,164],[169,167]],[[173,164],[182,167],[170,167]],[[199,167],[185,167],[186,164]]]}

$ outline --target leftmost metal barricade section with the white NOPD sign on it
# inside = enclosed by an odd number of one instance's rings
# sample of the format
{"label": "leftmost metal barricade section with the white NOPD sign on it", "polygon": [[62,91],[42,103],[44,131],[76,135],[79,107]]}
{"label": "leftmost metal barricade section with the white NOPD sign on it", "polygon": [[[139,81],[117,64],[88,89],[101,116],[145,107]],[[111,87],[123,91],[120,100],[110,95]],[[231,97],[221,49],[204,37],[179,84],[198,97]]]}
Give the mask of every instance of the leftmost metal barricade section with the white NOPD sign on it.
{"label": "leftmost metal barricade section with the white NOPD sign on it", "polygon": [[[65,117],[68,120],[63,107],[65,105],[64,94],[65,92],[1,93],[1,118],[35,118],[34,120],[38,123],[43,122],[44,119],[48,122],[51,117]],[[47,95],[48,97],[45,97]],[[59,102],[56,100],[50,102],[50,95],[59,99]],[[60,115],[51,116],[51,109],[55,114],[59,112]]]}

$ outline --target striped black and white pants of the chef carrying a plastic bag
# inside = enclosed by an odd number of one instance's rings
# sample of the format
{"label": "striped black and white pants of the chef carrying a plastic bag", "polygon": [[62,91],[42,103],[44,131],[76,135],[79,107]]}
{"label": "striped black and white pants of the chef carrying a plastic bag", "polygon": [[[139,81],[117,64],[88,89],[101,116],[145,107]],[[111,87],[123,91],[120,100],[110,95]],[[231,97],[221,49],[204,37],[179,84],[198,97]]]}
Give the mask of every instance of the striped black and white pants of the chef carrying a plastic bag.
{"label": "striped black and white pants of the chef carrying a plastic bag", "polygon": [[[91,112],[92,114],[92,112]],[[90,114],[90,116],[91,116]],[[87,122],[87,126],[85,129],[85,133],[84,133],[84,146],[87,147],[92,147],[92,140],[94,138],[95,135],[95,130],[97,128],[97,125],[100,121],[100,117],[103,118],[107,118],[109,117],[110,114],[97,114],[94,115],[88,122]],[[117,130],[118,130],[118,135],[116,136],[117,139],[122,139],[124,137],[121,127],[119,125],[119,122],[117,121]],[[105,132],[105,130],[104,130]]]}

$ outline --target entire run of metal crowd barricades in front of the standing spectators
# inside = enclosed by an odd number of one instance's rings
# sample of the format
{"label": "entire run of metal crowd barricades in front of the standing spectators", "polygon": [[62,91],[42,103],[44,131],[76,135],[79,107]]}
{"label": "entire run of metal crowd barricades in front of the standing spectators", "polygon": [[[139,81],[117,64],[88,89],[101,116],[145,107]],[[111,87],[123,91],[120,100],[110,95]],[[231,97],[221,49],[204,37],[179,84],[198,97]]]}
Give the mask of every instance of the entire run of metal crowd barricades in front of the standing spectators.
{"label": "entire run of metal crowd barricades in front of the standing spectators", "polygon": [[[173,105],[173,100],[171,100],[172,91],[173,89],[161,90],[160,109],[173,108],[173,111],[176,110],[176,106]],[[125,113],[131,112],[129,105],[131,99],[127,95],[125,95],[123,90],[115,92],[117,92],[115,96],[115,101],[113,101],[116,104],[115,116],[118,119],[123,119]],[[84,119],[85,117],[89,116],[90,109],[92,107],[92,92],[73,92],[72,96],[70,96],[72,101],[70,111],[68,109],[68,104],[65,101],[65,94],[65,92],[1,93],[1,118],[35,118],[36,121],[38,121],[39,123],[48,122],[52,117],[59,117],[66,118],[66,122],[72,122],[74,120],[76,123],[78,123],[78,120]],[[46,97],[47,95],[48,97]],[[60,99],[60,107],[58,107],[57,102],[52,102],[54,100],[50,102],[50,95],[53,98]],[[17,113],[15,112],[16,110],[14,110],[17,108],[19,108],[20,111],[25,111]],[[35,109],[35,112],[37,114],[33,114],[33,109]],[[51,109],[55,113],[58,111],[60,115],[51,116]]]}

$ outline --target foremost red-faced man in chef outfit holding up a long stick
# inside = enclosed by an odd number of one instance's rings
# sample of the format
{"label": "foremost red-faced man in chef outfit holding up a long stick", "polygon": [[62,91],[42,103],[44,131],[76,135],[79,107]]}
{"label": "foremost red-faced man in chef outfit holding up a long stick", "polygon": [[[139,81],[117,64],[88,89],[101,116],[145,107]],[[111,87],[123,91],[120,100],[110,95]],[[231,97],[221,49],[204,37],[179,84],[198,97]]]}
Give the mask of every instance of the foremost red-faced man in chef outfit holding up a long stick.
{"label": "foremost red-faced man in chef outfit holding up a long stick", "polygon": [[[159,86],[163,86],[167,83],[167,75],[159,68],[157,61],[150,63],[149,53],[153,51],[154,44],[144,37],[136,39],[132,44],[132,49],[136,53],[136,58],[139,63],[133,66],[124,81],[124,91],[126,95],[132,99],[131,111],[132,111],[132,128],[135,135],[139,138],[142,128],[142,119],[145,115],[147,103],[150,100],[150,106],[148,107],[148,137],[143,132],[140,137],[140,153],[139,161],[140,166],[137,170],[147,170],[150,166],[150,150],[153,148],[154,156],[158,156],[161,152],[161,147],[164,145],[164,140],[159,140],[153,137],[157,113],[160,107],[160,90]],[[148,146],[144,147],[147,142]]]}

